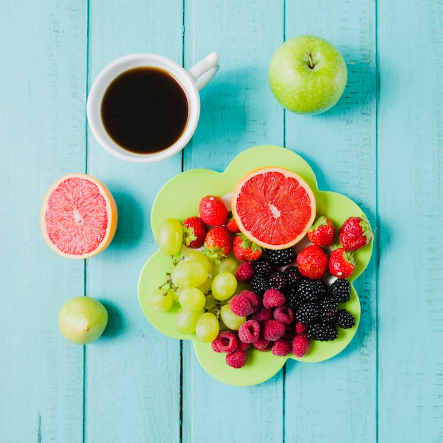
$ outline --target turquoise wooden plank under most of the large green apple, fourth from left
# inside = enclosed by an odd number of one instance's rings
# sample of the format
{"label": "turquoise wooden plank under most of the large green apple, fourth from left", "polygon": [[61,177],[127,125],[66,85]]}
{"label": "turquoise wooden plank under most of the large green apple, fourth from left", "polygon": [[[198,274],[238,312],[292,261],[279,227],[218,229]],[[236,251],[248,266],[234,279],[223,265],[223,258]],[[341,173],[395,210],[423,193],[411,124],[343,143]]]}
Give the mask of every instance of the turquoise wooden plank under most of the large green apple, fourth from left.
{"label": "turquoise wooden plank under most of the large green apple, fourth from left", "polygon": [[[286,2],[285,38],[320,35],[345,57],[343,97],[321,115],[286,113],[285,143],[311,166],[321,190],[340,192],[376,226],[376,46],[373,1]],[[376,441],[376,248],[355,287],[357,335],[340,355],[287,364],[285,436],[306,441]],[[294,410],[297,413],[294,414]],[[350,425],[352,423],[352,425]]]}

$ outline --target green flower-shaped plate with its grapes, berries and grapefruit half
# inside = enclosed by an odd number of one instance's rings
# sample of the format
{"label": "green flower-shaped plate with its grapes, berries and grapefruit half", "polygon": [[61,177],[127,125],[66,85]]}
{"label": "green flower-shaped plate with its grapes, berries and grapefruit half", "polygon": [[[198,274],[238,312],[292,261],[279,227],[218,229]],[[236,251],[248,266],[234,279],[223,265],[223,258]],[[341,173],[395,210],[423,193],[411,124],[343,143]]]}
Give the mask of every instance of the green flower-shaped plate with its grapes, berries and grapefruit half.
{"label": "green flower-shaped plate with its grapes, berries and grapefruit half", "polygon": [[[277,235],[272,243],[269,231],[279,228],[270,229],[265,218],[260,219],[260,207],[244,214],[241,208],[251,200],[243,198],[251,180],[258,174],[260,179],[273,180],[280,171],[286,171],[285,180],[298,180],[299,188],[294,191],[279,185],[277,194],[287,193],[292,200],[298,195],[297,204],[303,201],[305,207],[289,237]],[[260,190],[266,187],[263,183]],[[215,214],[222,217],[217,223],[202,213],[208,196],[207,207],[214,205],[217,196],[226,206],[222,215]],[[283,199],[282,207],[275,205],[269,205],[272,216],[284,217],[285,205],[291,202]],[[286,216],[292,217],[290,212]],[[258,226],[264,234],[248,227],[251,217],[260,219]],[[197,241],[197,236],[185,240],[190,230],[200,231],[194,219],[200,224],[205,220],[205,226],[202,241],[193,245],[190,242]],[[329,241],[323,219],[335,229]],[[347,226],[351,219],[364,229]],[[284,220],[283,229],[289,224],[290,220]],[[225,231],[229,227],[234,241],[221,248],[213,243],[209,247],[209,231],[221,227]],[[311,167],[294,151],[255,146],[238,154],[222,173],[200,168],[178,174],[156,196],[151,229],[159,251],[146,261],[139,276],[144,316],[161,333],[191,340],[198,361],[215,379],[234,386],[260,384],[275,376],[287,359],[322,362],[342,352],[355,336],[361,310],[352,282],[371,258],[372,231],[355,202],[337,192],[318,190]],[[355,232],[348,234],[352,229],[359,230],[357,242],[363,243],[344,251],[345,242],[355,240],[350,239]],[[240,236],[243,241],[236,242]],[[250,252],[252,244],[260,254],[245,258],[236,252],[236,243]],[[335,250],[343,253],[332,263]],[[260,274],[265,272],[263,263],[271,267],[266,278]],[[247,277],[246,268],[251,270]]]}

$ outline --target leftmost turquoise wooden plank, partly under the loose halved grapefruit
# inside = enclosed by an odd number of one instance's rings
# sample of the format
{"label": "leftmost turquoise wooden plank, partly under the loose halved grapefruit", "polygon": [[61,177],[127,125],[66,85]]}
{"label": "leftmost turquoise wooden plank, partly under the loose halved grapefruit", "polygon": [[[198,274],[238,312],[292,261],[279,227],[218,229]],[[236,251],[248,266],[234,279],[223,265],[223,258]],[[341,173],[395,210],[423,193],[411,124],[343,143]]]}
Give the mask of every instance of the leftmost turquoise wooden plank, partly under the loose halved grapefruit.
{"label": "leftmost turquoise wooden plank, partly under the loose halved grapefruit", "polygon": [[83,261],[45,245],[40,205],[59,176],[84,171],[83,2],[0,5],[0,441],[79,442],[83,348],[57,326],[84,291]]}

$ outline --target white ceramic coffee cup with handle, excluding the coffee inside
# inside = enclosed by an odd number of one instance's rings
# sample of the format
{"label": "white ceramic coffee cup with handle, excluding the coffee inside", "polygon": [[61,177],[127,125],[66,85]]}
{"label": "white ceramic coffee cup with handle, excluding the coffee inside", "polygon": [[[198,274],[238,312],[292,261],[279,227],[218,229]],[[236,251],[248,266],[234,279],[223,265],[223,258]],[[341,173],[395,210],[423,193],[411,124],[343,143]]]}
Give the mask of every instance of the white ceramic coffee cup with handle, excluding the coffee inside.
{"label": "white ceramic coffee cup with handle, excluding the coffee inside", "polygon": [[[89,91],[86,114],[91,132],[106,151],[121,160],[133,163],[154,163],[177,154],[188,144],[197,128],[200,117],[199,91],[217,73],[219,69],[218,60],[219,55],[217,52],[212,52],[188,71],[167,57],[146,52],[130,54],[114,60],[98,74],[91,86],[91,91]],[[171,74],[183,89],[188,100],[188,118],[184,130],[176,142],[160,151],[142,154],[125,149],[124,146],[120,146],[120,144],[114,141],[105,129],[101,112],[103,96],[108,91],[110,84],[120,74],[130,71],[130,69],[141,67],[157,68]]]}

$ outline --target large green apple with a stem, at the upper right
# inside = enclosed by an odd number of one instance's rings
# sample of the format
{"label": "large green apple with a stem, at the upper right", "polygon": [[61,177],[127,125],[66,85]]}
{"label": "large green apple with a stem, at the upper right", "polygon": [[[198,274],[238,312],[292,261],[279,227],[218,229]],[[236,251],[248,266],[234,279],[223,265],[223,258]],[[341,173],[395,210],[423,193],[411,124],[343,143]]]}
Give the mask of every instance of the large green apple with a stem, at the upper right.
{"label": "large green apple with a stem, at the upper right", "polygon": [[340,100],[347,82],[343,55],[315,35],[287,40],[272,56],[268,78],[271,91],[287,110],[324,113]]}

